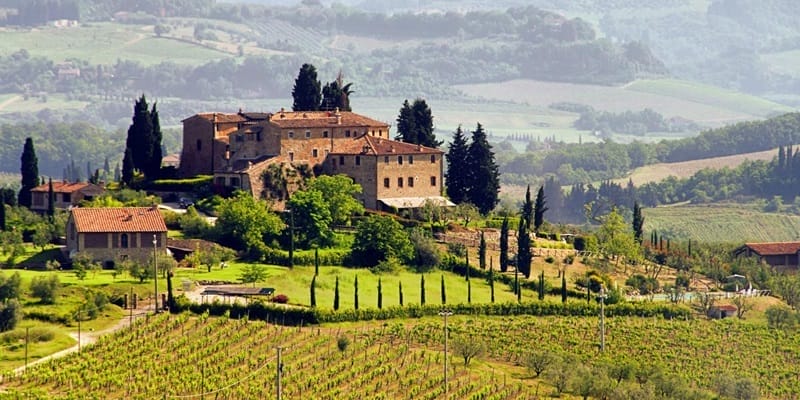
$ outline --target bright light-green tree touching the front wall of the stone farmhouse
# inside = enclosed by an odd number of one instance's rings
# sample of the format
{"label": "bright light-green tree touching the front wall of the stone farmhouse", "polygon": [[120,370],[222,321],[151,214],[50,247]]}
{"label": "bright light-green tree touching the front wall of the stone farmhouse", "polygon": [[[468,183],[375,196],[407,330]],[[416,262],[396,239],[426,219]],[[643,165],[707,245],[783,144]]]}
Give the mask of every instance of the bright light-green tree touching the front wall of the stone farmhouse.
{"label": "bright light-green tree touching the front wall of the stone farmhouse", "polygon": [[361,194],[361,185],[347,175],[318,176],[309,182],[308,189],[322,193],[333,218],[333,224],[350,225],[353,215],[364,213],[364,205],[355,197]]}

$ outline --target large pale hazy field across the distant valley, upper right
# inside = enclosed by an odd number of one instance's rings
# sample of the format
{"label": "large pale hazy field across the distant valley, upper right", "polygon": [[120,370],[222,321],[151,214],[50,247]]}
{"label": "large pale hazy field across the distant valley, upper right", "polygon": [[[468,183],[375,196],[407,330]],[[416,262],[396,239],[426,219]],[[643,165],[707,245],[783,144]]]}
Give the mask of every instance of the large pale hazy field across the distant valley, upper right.
{"label": "large pale hazy field across the distant valley, upper right", "polygon": [[571,102],[613,112],[650,108],[666,118],[680,116],[706,126],[790,111],[789,107],[754,96],[671,79],[636,81],[616,87],[513,80],[459,85],[457,88],[472,96],[538,107]]}

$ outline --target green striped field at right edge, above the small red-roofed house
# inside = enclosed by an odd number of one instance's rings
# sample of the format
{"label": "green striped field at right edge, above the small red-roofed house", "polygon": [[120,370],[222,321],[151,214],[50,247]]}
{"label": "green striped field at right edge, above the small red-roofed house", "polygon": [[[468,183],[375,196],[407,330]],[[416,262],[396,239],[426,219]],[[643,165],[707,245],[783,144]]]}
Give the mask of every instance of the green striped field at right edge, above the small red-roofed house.
{"label": "green striped field at right edge, above the small red-roofed house", "polygon": [[673,240],[710,243],[779,242],[800,237],[800,216],[753,207],[682,205],[644,209],[645,230]]}

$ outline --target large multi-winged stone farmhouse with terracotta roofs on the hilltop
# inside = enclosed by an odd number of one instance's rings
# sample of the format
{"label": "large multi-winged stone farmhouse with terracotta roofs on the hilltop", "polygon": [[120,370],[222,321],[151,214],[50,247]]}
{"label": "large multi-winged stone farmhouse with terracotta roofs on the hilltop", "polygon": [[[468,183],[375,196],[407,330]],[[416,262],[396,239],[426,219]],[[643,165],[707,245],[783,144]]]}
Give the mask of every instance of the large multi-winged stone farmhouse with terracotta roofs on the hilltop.
{"label": "large multi-winged stone farmhouse with terracotta roofs on the hilltop", "polygon": [[257,197],[285,200],[297,189],[285,176],[313,171],[350,176],[370,209],[452,204],[441,150],[392,140],[388,124],[353,112],[197,114],[184,120],[183,144],[181,176],[213,171],[215,186]]}

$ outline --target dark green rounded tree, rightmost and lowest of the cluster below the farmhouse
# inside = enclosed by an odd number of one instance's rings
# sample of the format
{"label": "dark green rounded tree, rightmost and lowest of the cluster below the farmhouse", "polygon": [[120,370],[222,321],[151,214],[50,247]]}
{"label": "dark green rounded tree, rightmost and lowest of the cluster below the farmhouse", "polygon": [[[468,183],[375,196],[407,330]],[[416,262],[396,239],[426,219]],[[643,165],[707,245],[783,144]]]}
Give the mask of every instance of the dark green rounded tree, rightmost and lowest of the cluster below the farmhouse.
{"label": "dark green rounded tree, rightmost and lowest of the cluster below the farmhouse", "polygon": [[351,249],[354,263],[375,266],[389,257],[408,261],[414,248],[402,225],[391,217],[370,215],[356,226]]}

